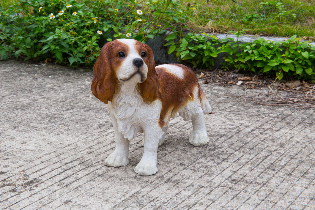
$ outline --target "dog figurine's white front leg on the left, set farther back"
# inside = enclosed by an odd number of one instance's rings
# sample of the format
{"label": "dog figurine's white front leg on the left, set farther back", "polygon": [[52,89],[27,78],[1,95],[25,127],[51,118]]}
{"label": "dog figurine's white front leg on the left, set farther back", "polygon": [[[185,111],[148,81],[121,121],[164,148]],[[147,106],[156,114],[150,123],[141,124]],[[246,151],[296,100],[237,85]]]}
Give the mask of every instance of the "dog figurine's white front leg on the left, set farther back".
{"label": "dog figurine's white front leg on the left, set farther back", "polygon": [[129,163],[129,140],[124,138],[123,134],[118,131],[116,119],[113,119],[113,126],[116,148],[115,151],[106,158],[105,165],[113,167],[126,166]]}

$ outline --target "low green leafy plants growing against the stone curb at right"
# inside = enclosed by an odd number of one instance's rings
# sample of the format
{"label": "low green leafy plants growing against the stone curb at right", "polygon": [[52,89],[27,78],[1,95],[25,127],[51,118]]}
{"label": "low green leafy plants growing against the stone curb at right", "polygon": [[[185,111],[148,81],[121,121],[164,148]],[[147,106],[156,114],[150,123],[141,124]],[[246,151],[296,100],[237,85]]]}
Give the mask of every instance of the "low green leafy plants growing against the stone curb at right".
{"label": "low green leafy plants growing against the stone curb at right", "polygon": [[171,48],[179,60],[186,60],[194,67],[207,68],[214,64],[218,54],[224,53],[225,62],[221,63],[224,68],[254,71],[279,80],[286,75],[315,82],[315,46],[300,43],[296,35],[282,42],[258,38],[252,43],[239,43],[231,38],[218,40],[214,36],[188,33],[178,45],[172,43]]}

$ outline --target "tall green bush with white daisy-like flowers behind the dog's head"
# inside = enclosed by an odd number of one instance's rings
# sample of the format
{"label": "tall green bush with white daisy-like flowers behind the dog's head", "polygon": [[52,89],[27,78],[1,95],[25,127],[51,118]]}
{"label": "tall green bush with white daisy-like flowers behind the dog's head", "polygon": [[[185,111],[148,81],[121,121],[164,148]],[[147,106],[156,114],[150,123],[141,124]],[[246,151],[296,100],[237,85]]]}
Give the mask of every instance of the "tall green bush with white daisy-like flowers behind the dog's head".
{"label": "tall green bush with white daisy-like flowers behind the dog's head", "polygon": [[146,42],[165,28],[180,37],[191,7],[176,0],[21,0],[0,9],[0,59],[52,59],[93,65],[112,38]]}

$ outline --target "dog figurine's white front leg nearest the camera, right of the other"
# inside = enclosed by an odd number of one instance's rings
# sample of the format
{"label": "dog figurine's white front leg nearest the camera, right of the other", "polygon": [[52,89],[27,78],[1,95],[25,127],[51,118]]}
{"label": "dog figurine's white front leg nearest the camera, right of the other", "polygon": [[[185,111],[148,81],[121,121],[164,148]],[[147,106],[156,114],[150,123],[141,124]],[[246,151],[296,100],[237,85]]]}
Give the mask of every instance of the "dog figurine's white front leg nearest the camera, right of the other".
{"label": "dog figurine's white front leg nearest the camera, right of the other", "polygon": [[143,156],[135,167],[135,172],[142,176],[149,176],[157,173],[157,147],[163,131],[157,126],[144,128],[143,132]]}

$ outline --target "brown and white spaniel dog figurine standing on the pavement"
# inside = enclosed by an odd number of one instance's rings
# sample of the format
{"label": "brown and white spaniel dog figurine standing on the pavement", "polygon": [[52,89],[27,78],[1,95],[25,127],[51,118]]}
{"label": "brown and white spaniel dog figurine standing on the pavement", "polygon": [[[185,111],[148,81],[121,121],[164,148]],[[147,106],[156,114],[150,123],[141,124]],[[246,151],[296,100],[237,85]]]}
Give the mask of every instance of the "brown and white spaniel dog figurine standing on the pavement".
{"label": "brown and white spaniel dog figurine standing on the pavement", "polygon": [[155,67],[151,48],[133,39],[106,43],[94,68],[91,90],[111,114],[116,149],[105,164],[119,167],[129,163],[129,141],[144,133],[143,156],[135,167],[139,175],[157,172],[157,147],[164,142],[169,120],[177,113],[192,119],[189,142],[209,142],[203,113],[211,107],[194,72],[180,64]]}

